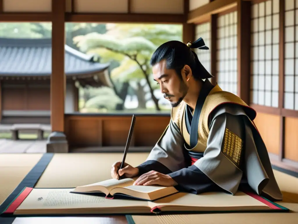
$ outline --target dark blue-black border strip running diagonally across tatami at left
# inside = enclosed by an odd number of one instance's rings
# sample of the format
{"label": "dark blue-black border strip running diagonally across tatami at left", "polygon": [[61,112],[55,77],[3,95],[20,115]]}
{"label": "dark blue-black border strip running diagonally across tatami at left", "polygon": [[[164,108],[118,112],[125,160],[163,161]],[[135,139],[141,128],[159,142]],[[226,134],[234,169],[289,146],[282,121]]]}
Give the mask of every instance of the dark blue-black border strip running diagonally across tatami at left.
{"label": "dark blue-black border strip running diagonally across tatami at left", "polygon": [[[45,153],[41,159],[36,163],[36,165],[29,171],[29,173],[24,177],[24,179],[19,183],[15,190],[7,197],[7,199],[0,205],[0,214],[6,210],[10,203],[21,193],[25,187],[35,187],[35,184],[38,182],[41,175],[44,173],[47,165],[51,162],[54,154]],[[5,184],[5,183],[2,183]],[[11,224],[15,217],[1,217],[1,224]]]}

